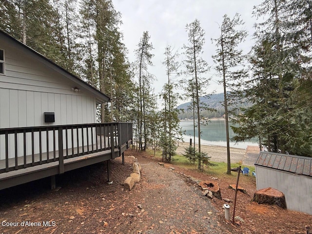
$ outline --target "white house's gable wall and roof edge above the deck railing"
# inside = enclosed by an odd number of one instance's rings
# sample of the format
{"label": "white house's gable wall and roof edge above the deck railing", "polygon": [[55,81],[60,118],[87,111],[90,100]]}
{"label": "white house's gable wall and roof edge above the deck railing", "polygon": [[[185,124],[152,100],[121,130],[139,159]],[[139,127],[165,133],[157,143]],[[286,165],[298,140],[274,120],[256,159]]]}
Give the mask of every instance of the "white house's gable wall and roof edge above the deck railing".
{"label": "white house's gable wall and roof edge above the deck railing", "polygon": [[[0,128],[96,122],[110,98],[18,40],[0,32]],[[55,121],[45,121],[53,112]]]}

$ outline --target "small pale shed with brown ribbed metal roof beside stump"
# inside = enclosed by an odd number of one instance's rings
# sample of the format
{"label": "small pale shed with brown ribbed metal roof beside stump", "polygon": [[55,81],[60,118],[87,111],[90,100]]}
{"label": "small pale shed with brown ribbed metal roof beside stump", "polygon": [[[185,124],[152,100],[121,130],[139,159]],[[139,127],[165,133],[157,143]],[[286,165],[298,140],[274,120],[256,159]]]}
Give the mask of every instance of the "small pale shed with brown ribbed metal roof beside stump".
{"label": "small pale shed with brown ribbed metal roof beside stump", "polygon": [[277,189],[289,210],[312,215],[312,157],[260,152],[254,165],[257,190]]}

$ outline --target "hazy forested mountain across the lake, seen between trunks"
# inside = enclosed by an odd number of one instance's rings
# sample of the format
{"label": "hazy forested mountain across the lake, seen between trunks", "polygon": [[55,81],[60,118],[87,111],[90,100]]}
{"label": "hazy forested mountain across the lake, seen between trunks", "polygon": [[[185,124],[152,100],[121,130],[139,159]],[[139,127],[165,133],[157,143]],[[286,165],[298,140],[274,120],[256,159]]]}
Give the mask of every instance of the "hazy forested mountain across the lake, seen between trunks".
{"label": "hazy forested mountain across the lake, seen between trunks", "polygon": [[[200,97],[199,98],[201,102],[205,103],[209,108],[214,108],[216,109],[216,112],[210,112],[210,111],[202,111],[201,115],[203,117],[207,118],[213,118],[213,117],[221,117],[224,115],[224,95],[223,93],[220,94],[213,94],[209,97]],[[183,113],[180,113],[178,117],[180,119],[192,119],[193,118],[193,111],[188,110],[188,106],[190,106],[191,102],[186,102],[183,104],[180,104],[177,109],[182,109],[184,110]],[[250,103],[240,103],[235,107],[248,107],[251,106]],[[229,107],[229,110],[233,109],[234,107]]]}

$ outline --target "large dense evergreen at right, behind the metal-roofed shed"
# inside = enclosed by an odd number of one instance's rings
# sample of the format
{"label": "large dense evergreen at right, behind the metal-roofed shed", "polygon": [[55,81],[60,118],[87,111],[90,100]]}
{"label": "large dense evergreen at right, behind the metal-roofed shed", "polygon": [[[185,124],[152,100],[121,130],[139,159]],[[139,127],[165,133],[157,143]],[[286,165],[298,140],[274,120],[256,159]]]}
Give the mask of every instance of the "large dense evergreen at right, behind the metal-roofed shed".
{"label": "large dense evergreen at right, behind the metal-roofed shed", "polygon": [[[234,132],[236,139],[257,135],[269,151],[311,156],[311,124],[307,123],[311,105],[300,95],[309,87],[311,41],[304,36],[308,31],[302,30],[300,20],[294,20],[301,19],[294,10],[300,8],[299,2],[303,1],[265,0],[255,7],[254,14],[266,15],[267,20],[256,25],[251,57],[255,79],[246,82],[244,90],[254,105],[238,116],[242,127]],[[296,40],[298,35],[302,39]]]}

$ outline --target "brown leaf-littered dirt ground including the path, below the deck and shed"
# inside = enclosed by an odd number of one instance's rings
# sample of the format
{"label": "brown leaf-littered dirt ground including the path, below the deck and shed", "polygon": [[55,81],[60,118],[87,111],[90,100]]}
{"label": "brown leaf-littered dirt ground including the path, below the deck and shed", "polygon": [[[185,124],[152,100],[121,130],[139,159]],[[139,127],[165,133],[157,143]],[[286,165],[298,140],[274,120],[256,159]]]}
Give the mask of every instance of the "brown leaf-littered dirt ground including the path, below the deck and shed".
{"label": "brown leaf-littered dirt ground including the path, below the deck and shed", "polygon": [[[106,163],[99,163],[59,176],[54,191],[49,179],[0,191],[0,234],[306,234],[305,226],[312,226],[312,215],[252,203],[252,176],[240,178],[249,195],[238,192],[235,215],[243,220],[232,224],[224,219],[225,202],[203,196],[193,180],[181,173],[217,181],[222,198],[232,201],[234,190],[228,186],[235,183],[235,176],[216,179],[177,166],[173,171],[171,164],[161,167],[150,155],[132,150],[125,155],[125,165],[121,158],[111,160],[110,185],[105,182]],[[127,191],[122,182],[132,172],[130,155],[137,157],[143,173],[141,181]],[[232,215],[233,202],[229,204]]]}

